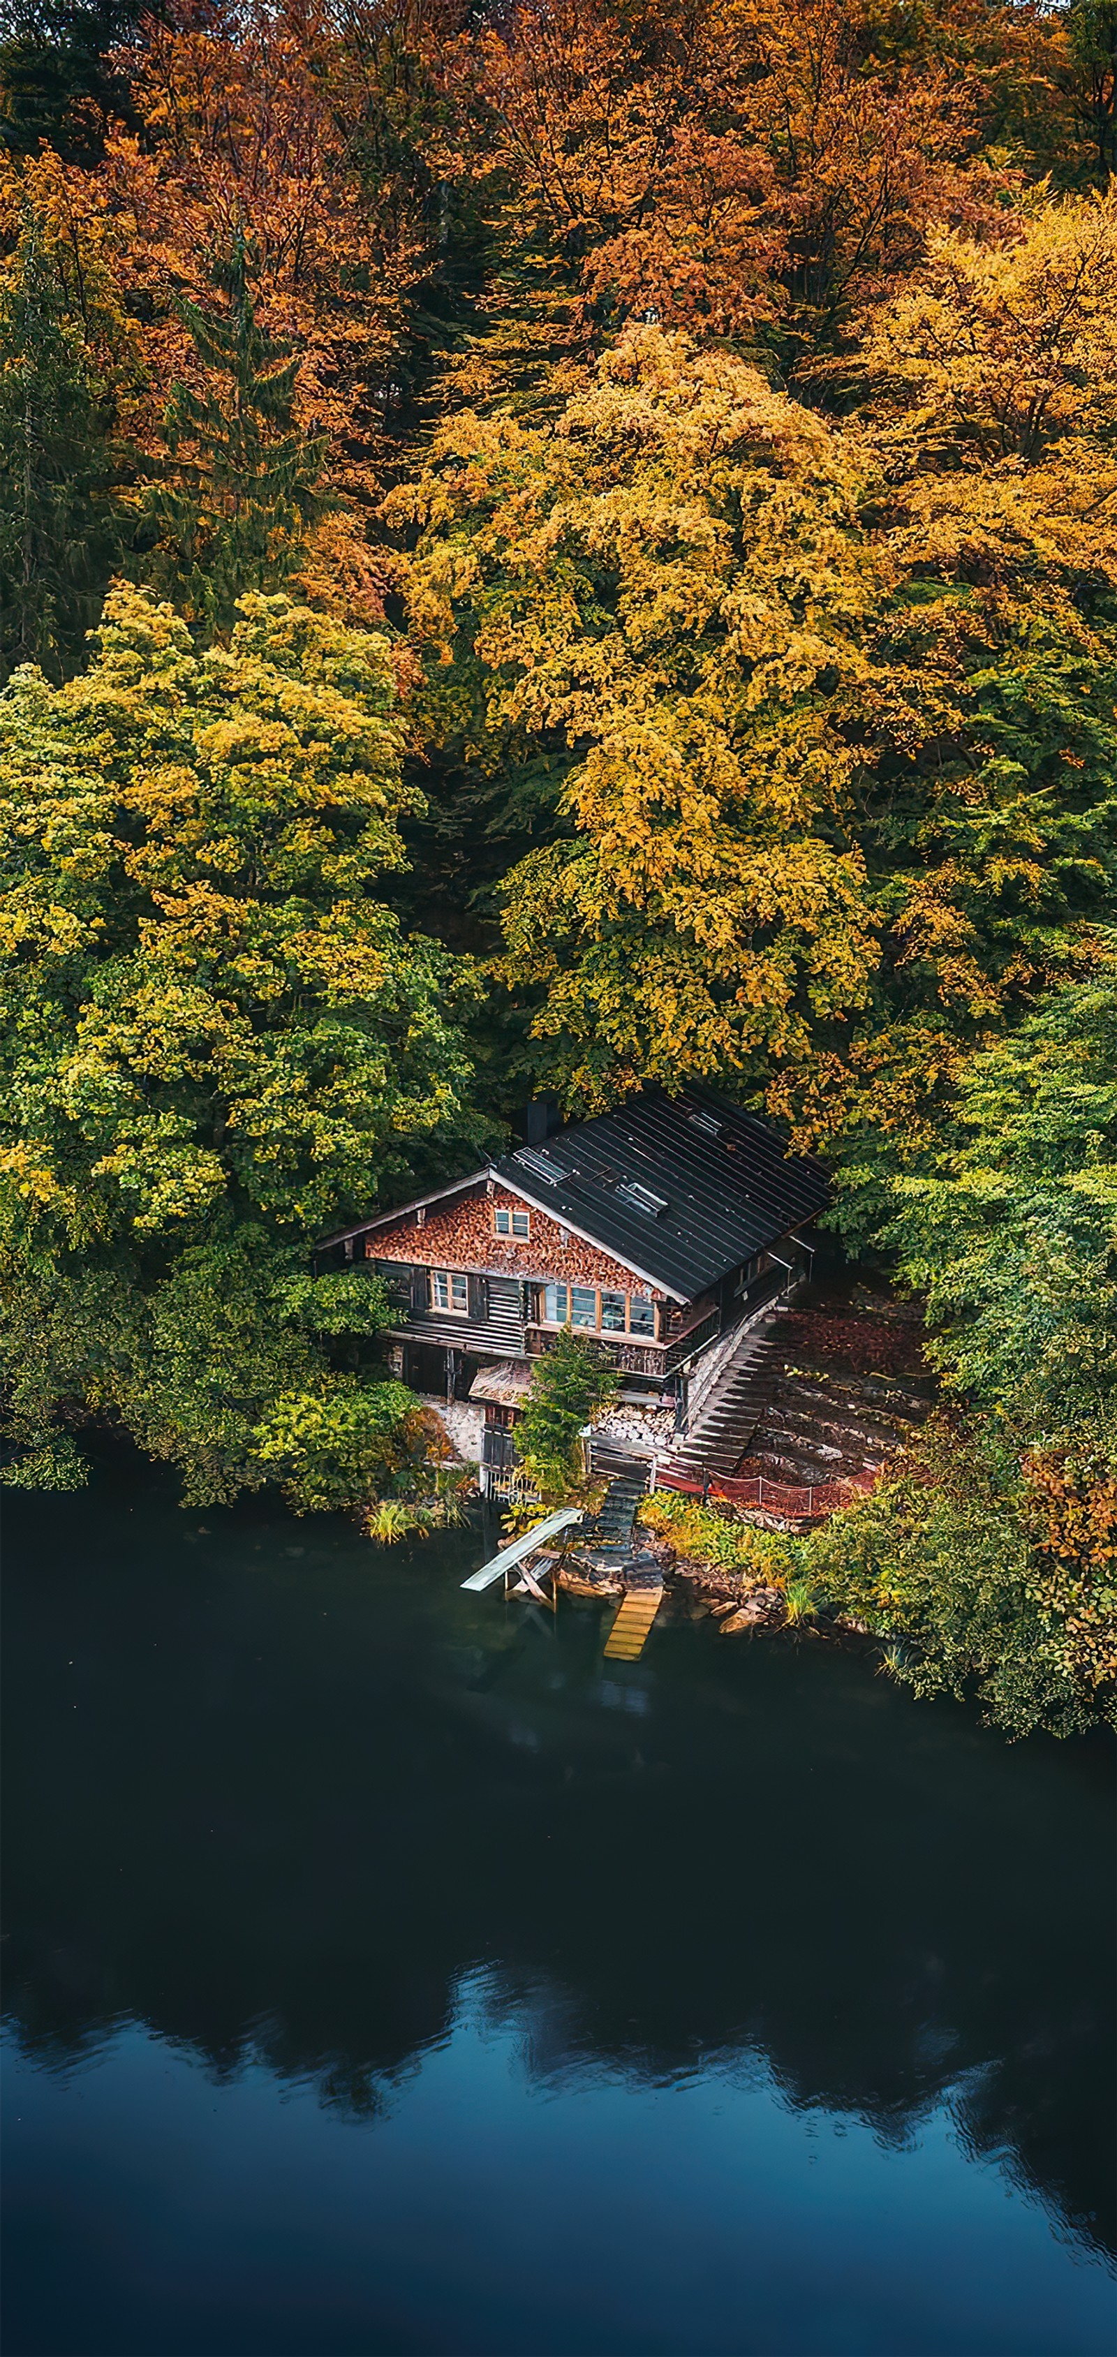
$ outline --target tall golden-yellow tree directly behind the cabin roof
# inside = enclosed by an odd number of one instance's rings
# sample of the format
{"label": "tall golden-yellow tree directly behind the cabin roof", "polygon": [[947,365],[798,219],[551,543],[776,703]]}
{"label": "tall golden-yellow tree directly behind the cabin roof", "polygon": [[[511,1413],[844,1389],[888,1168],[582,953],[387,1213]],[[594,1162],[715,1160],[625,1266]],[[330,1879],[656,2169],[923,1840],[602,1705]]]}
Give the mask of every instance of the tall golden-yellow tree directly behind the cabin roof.
{"label": "tall golden-yellow tree directly behind the cabin roof", "polygon": [[389,502],[422,530],[429,733],[478,764],[542,742],[563,771],[556,839],[507,882],[502,971],[570,1098],[801,1058],[865,999],[858,495],[756,370],[639,328],[554,434],[455,420]]}

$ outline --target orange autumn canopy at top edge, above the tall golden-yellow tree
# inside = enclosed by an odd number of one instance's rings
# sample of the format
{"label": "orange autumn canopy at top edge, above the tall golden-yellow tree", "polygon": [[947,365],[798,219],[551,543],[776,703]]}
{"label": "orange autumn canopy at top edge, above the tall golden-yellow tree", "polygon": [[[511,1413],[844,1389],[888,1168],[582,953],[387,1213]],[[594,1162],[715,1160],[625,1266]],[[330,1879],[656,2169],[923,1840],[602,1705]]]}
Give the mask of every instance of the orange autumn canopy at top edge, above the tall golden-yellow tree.
{"label": "orange autumn canopy at top edge, above the tall golden-yellow tree", "polygon": [[745,335],[785,368],[830,349],[928,219],[987,224],[1018,179],[983,158],[1002,16],[983,47],[952,9],[919,35],[837,0],[521,0],[443,42],[455,167],[504,255],[469,394],[627,318]]}

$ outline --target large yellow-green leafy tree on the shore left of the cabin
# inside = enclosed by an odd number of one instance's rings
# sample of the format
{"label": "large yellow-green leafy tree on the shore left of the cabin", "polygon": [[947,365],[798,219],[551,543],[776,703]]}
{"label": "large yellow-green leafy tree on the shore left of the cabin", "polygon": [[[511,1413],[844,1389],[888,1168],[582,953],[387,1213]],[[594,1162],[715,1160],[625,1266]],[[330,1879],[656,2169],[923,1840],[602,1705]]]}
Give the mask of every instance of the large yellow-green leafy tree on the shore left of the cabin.
{"label": "large yellow-green leafy tree on the shore left of the cabin", "polygon": [[78,1478],[106,1417],[193,1499],[368,1504],[415,1402],[309,1247],[474,1127],[469,976],[382,898],[389,643],[250,596],[196,653],[118,589],[82,679],[0,698],[0,787],[9,1478]]}

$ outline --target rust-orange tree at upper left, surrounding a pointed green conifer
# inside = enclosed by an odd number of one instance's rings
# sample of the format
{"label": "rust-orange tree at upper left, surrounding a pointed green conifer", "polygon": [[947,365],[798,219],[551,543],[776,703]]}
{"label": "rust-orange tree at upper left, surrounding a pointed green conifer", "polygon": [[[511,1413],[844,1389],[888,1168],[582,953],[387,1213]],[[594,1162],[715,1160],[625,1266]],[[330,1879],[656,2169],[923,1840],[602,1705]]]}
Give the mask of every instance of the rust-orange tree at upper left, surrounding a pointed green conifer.
{"label": "rust-orange tree at upper left, surrounding a pointed green conifer", "polygon": [[372,620],[368,521],[417,240],[398,191],[368,186],[361,125],[335,104],[337,71],[337,40],[313,9],[255,5],[151,26],[132,68],[144,134],[108,139],[94,200],[113,214],[125,299],[141,321],[146,450],[163,471],[167,405],[214,398],[191,306],[210,311],[214,266],[247,252],[259,335],[297,358],[292,422],[323,445],[323,521],[297,582]]}

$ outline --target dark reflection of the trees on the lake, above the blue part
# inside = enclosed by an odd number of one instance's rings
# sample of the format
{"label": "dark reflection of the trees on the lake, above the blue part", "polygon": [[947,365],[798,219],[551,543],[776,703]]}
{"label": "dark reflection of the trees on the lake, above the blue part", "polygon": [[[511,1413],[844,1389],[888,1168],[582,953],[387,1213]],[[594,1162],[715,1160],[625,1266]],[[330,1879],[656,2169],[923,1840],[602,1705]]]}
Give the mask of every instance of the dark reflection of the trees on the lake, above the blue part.
{"label": "dark reflection of the trees on the lake, above the blue part", "polygon": [[372,2117],[469,1989],[537,2084],[771,2067],[891,2145],[950,2091],[973,2154],[1112,2244],[1103,1742],[1009,1747],[709,1624],[617,1673],[596,1607],[464,1598],[469,1537],[379,1556],[141,1483],[7,1513],[33,2055],[134,2018]]}

